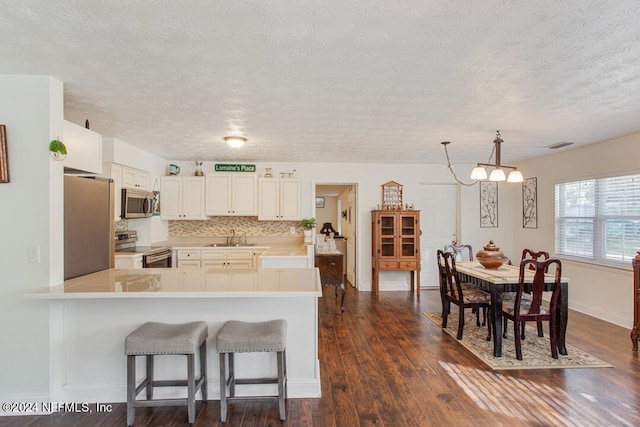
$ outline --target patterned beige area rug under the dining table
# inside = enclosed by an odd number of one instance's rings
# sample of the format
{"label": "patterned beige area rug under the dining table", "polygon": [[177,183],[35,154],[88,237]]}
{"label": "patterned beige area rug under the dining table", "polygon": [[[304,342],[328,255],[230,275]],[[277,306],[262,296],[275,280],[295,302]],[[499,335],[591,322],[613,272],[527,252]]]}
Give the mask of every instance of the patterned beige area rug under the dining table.
{"label": "patterned beige area rug under the dining table", "polygon": [[[441,313],[424,313],[424,315],[438,326],[442,326]],[[529,322],[527,322],[529,323]],[[545,336],[538,337],[535,323],[527,324],[526,339],[522,341],[522,359],[516,358],[513,342],[513,322],[509,322],[509,334],[502,339],[502,357],[493,356],[493,341],[487,341],[487,327],[476,326],[476,316],[469,311],[465,315],[465,328],[461,340],[463,347],[473,353],[493,370],[507,369],[556,369],[556,368],[613,368],[613,365],[594,357],[575,346],[567,344],[567,356],[558,355],[558,359],[551,357],[549,332],[545,325]],[[444,331],[454,339],[458,332],[458,314],[449,315],[449,321]]]}

